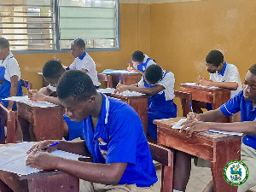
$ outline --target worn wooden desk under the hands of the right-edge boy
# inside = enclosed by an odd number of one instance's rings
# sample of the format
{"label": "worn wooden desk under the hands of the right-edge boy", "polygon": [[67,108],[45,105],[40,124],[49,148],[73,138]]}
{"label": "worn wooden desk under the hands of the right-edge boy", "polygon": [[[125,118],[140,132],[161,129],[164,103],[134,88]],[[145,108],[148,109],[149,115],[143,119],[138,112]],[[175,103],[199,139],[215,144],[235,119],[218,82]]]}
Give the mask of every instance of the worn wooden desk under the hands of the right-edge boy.
{"label": "worn wooden desk under the hands of the right-edge boy", "polygon": [[235,192],[237,187],[224,180],[224,166],[230,160],[241,158],[241,137],[224,134],[196,133],[193,137],[186,137],[172,129],[180,118],[157,119],[157,142],[170,148],[192,154],[204,160],[211,161],[212,179],[215,192]]}

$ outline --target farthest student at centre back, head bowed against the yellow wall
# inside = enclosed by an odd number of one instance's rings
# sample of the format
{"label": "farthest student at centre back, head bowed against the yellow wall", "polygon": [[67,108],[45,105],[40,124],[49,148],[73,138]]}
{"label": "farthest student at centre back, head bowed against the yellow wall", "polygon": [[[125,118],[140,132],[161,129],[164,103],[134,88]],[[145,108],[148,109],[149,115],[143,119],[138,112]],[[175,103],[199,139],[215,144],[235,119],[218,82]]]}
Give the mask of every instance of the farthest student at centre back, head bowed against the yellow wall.
{"label": "farthest student at centre back, head bowed against the yellow wall", "polygon": [[[135,51],[131,55],[131,61],[135,71],[140,74],[143,74],[148,66],[156,64],[154,60],[150,59],[148,55],[143,54],[140,50]],[[127,67],[127,70],[131,71],[132,67]]]}

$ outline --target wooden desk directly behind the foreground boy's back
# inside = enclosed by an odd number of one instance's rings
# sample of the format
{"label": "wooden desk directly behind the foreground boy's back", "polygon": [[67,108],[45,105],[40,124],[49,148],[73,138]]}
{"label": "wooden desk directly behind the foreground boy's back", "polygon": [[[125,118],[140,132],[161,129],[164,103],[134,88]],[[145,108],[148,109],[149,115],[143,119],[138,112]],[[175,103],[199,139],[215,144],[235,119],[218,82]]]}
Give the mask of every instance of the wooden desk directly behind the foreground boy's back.
{"label": "wooden desk directly behind the foreground boy's back", "polygon": [[117,94],[106,94],[107,96],[121,100],[131,105],[143,122],[143,130],[147,136],[148,131],[148,96],[120,96]]}

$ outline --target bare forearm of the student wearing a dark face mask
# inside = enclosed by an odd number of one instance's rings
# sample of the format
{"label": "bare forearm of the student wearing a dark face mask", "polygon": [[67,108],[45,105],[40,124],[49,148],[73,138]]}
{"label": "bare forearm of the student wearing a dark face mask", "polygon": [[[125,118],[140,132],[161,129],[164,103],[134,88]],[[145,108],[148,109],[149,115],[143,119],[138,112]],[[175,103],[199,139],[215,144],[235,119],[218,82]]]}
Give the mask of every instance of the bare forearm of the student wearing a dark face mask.
{"label": "bare forearm of the student wearing a dark face mask", "polygon": [[238,83],[236,82],[213,82],[212,80],[208,80],[204,78],[198,79],[196,83],[204,86],[215,86],[215,87],[226,88],[230,90],[237,90],[238,88]]}

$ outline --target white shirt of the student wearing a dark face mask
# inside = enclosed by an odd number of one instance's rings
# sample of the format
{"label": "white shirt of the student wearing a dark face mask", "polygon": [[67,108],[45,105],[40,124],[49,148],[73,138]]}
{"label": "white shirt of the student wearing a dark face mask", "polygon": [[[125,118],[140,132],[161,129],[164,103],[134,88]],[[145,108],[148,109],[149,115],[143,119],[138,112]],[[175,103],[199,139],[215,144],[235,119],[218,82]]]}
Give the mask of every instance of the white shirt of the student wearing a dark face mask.
{"label": "white shirt of the student wearing a dark face mask", "polygon": [[210,79],[214,82],[236,82],[238,84],[237,90],[231,90],[231,97],[236,96],[242,90],[241,79],[238,69],[233,64],[227,64],[224,73],[210,73]]}

